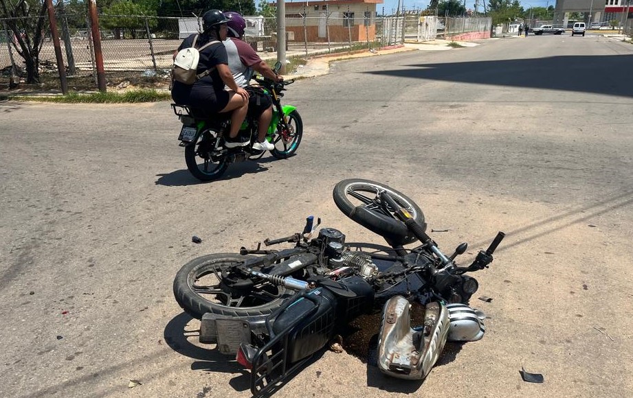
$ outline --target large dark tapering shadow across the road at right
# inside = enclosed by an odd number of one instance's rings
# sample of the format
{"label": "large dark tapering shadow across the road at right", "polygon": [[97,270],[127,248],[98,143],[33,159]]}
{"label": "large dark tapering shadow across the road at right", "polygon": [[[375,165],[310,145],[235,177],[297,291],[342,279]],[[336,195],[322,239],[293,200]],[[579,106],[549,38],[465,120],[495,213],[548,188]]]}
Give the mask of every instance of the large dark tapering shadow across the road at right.
{"label": "large dark tapering shadow across the road at right", "polygon": [[630,55],[554,56],[406,65],[411,69],[366,73],[633,97],[633,79],[626,73],[617,73],[630,69],[630,65],[633,65]]}

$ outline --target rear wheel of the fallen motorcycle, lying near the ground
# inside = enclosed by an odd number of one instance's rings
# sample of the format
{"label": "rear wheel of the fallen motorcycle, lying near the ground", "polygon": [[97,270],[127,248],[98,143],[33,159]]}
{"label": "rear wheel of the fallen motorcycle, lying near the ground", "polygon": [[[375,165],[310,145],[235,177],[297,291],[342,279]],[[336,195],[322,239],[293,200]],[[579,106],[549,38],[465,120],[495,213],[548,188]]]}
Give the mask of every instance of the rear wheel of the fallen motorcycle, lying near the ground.
{"label": "rear wheel of the fallen motorcycle, lying near the ground", "polygon": [[[176,301],[187,314],[197,319],[207,312],[237,318],[260,317],[274,312],[291,295],[282,286],[263,283],[255,295],[242,297],[233,297],[220,286],[222,270],[249,258],[252,256],[219,253],[192,259],[177,272],[174,279]],[[206,286],[197,284],[202,280],[204,283],[216,283]],[[270,300],[263,300],[263,297]]]}

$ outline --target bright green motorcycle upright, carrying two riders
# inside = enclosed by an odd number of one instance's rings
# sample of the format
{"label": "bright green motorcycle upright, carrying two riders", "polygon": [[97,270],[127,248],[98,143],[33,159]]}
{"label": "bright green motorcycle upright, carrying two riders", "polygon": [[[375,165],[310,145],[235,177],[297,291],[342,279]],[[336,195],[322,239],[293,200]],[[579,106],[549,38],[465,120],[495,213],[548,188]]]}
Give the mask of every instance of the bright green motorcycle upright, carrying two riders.
{"label": "bright green motorcycle upright, carrying two riders", "polygon": [[[277,62],[274,72],[281,68]],[[281,105],[282,91],[294,80],[274,82],[256,75],[254,80],[269,93],[273,102],[273,116],[266,135],[267,141],[275,145],[271,154],[277,159],[285,159],[297,151],[303,134],[303,122],[298,110],[292,105]],[[180,146],[185,147],[185,162],[189,172],[202,181],[219,178],[230,163],[247,159],[259,159],[263,150],[252,148],[258,134],[257,120],[247,117],[241,126],[240,134],[249,137],[249,144],[238,148],[226,148],[225,134],[231,125],[231,113],[207,115],[190,106],[171,104],[174,113],[183,126],[178,135]]]}

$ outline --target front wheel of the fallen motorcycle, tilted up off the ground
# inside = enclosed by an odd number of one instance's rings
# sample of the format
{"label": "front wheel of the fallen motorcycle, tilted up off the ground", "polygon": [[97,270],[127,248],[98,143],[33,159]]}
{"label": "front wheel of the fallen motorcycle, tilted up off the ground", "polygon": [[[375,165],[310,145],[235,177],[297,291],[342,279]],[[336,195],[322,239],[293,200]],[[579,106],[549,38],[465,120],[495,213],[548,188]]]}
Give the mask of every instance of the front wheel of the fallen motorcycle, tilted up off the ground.
{"label": "front wheel of the fallen motorcycle, tilted up off the ground", "polygon": [[[414,220],[426,229],[422,209],[408,196],[388,185],[376,183],[372,180],[351,178],[337,183],[332,194],[334,202],[340,211],[366,229],[381,235],[390,244],[403,245],[416,242],[417,238],[414,237],[403,222],[397,220],[390,211],[384,211],[378,198],[378,194],[381,191],[388,192],[403,209],[410,213]],[[363,193],[371,194],[373,197],[366,196]],[[355,198],[359,204],[353,203],[350,197]]]}

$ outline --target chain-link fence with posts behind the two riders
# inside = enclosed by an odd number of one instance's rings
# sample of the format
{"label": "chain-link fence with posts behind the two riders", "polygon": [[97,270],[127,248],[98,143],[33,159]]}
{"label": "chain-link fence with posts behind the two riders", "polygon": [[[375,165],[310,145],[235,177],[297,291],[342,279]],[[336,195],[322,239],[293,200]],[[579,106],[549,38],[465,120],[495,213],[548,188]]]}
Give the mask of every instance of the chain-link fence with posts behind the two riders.
{"label": "chain-link fence with posts behind the two riders", "polygon": [[[260,27],[256,32],[247,28],[245,40],[263,59],[276,59],[276,19],[256,18]],[[56,19],[69,88],[96,87],[97,62],[89,19],[78,14],[57,14]],[[5,21],[0,19],[0,86],[7,86],[12,74],[25,78],[20,46]],[[108,84],[119,84],[122,80],[166,84],[175,49],[182,38],[199,29],[197,21],[190,22],[168,17],[100,14],[100,47]],[[298,14],[287,17],[285,22],[287,58],[398,45],[406,34],[403,17],[377,17],[375,12],[365,12],[361,18],[354,18],[353,14],[342,17],[328,13],[312,17]],[[46,86],[56,87],[59,76],[48,21],[43,26],[38,71]]]}

